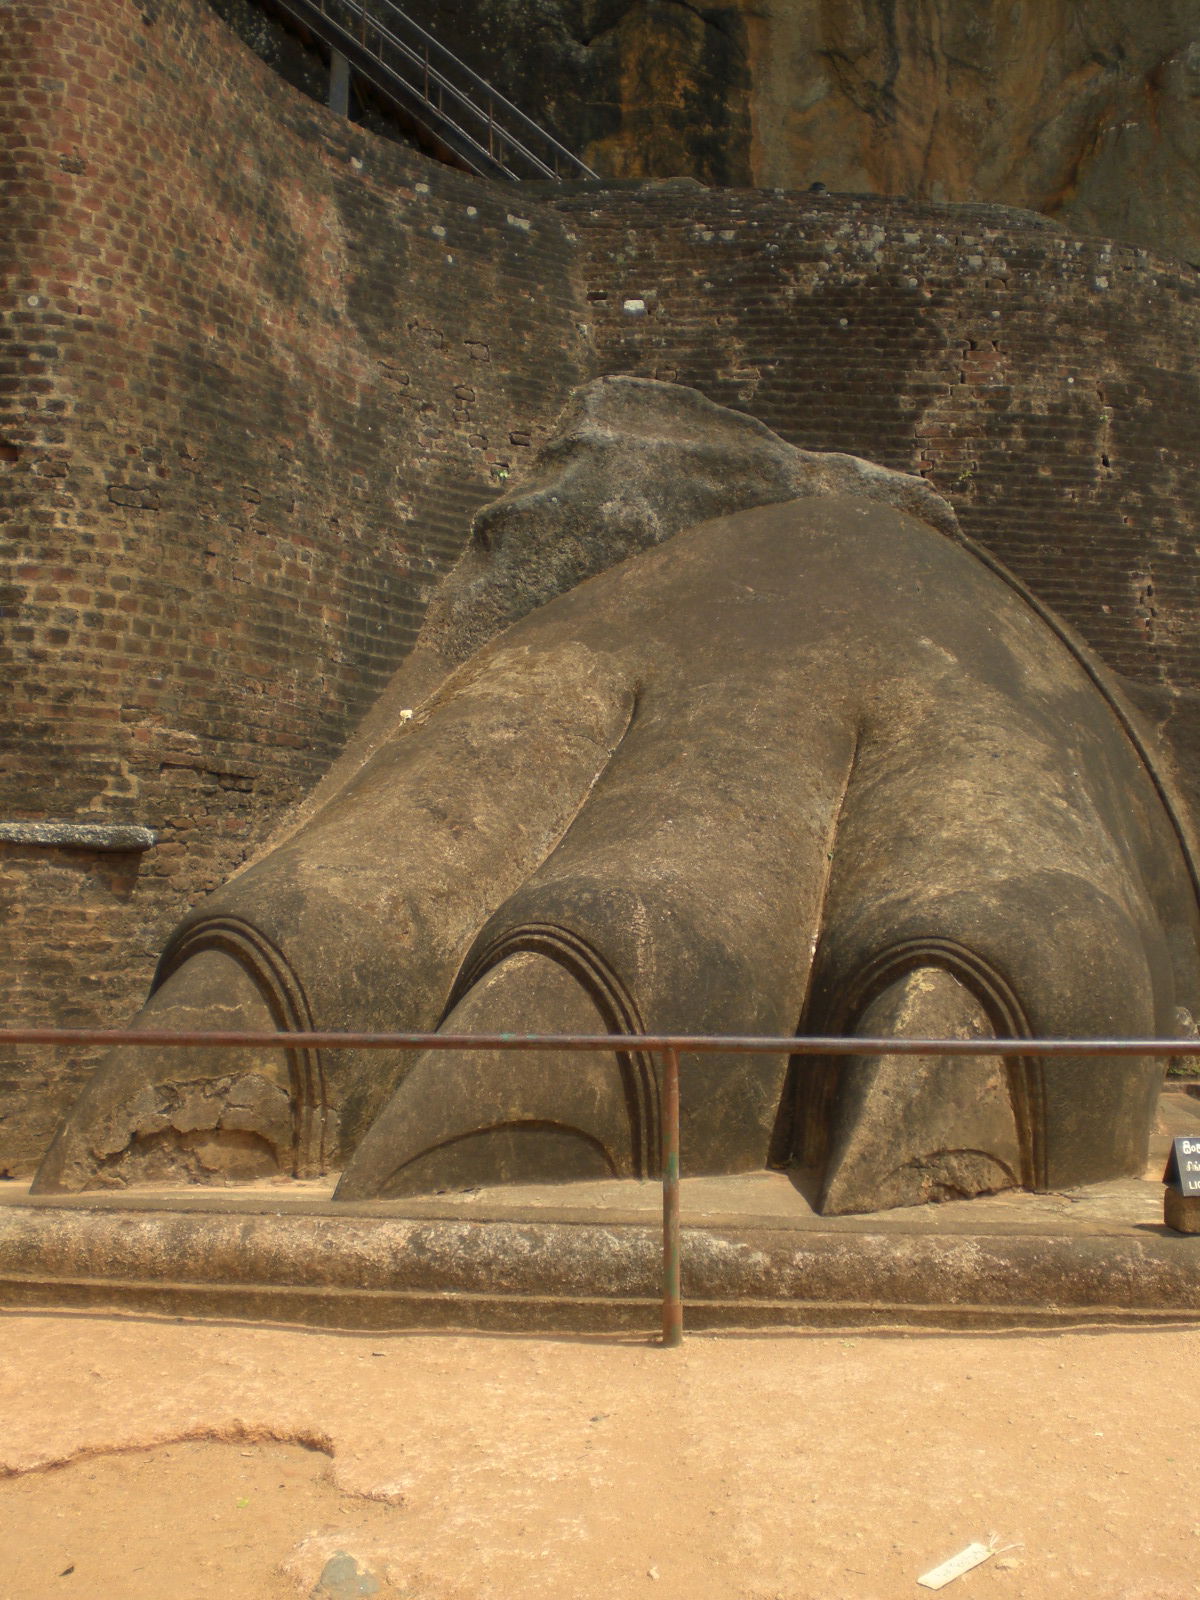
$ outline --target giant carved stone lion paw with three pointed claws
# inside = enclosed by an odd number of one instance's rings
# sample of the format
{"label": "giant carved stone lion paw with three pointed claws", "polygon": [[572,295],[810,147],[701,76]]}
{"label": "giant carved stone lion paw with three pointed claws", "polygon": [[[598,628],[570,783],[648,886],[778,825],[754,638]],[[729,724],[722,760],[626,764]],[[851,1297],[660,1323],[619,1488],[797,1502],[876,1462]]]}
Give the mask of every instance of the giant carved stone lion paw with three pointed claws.
{"label": "giant carved stone lion paw with three pointed claws", "polygon": [[[410,712],[410,707],[414,710]],[[142,1026],[1178,1032],[1190,856],[1102,674],[920,480],[686,389],[582,390],[304,814]],[[683,1061],[683,1170],[826,1211],[1134,1173],[1154,1061]],[[648,1176],[650,1059],[131,1050],[40,1192]]]}

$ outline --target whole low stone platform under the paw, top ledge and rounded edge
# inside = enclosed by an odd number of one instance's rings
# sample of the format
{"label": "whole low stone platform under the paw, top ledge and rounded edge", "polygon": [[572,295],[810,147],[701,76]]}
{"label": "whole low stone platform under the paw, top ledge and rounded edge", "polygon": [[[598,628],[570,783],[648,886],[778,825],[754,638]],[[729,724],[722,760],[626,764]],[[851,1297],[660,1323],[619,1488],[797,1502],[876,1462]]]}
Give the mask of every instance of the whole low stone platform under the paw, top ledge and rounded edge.
{"label": "whole low stone platform under the paw, top ledge and rounded edge", "polygon": [[[1157,1157],[1155,1157],[1157,1160]],[[0,1187],[0,1306],[326,1328],[659,1325],[654,1184],[331,1205],[331,1184],[30,1200]],[[859,1218],[774,1173],[683,1182],[685,1325],[1200,1322],[1200,1238],[1125,1179]]]}

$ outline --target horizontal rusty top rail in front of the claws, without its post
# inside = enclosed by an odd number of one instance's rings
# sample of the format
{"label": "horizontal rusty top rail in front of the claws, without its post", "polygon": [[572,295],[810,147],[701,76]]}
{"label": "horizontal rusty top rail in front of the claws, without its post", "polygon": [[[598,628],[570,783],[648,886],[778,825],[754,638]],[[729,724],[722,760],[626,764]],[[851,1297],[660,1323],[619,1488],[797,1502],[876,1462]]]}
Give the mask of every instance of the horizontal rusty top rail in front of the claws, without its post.
{"label": "horizontal rusty top rail in front of the claws, without its post", "polygon": [[205,1045],[214,1050],[626,1050],[730,1056],[1200,1056],[1200,1038],[758,1038],[720,1034],[178,1034],[0,1027],[0,1045]]}

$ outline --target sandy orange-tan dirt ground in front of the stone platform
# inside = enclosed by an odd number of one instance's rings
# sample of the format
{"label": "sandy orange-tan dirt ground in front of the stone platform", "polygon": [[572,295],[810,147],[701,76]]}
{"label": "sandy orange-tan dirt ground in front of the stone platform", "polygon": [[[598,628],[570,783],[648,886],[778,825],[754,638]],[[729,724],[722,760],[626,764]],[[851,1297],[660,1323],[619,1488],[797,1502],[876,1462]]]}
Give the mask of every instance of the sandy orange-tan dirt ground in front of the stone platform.
{"label": "sandy orange-tan dirt ground in front of the stone platform", "polygon": [[0,1317],[5,1600],[1200,1594],[1200,1331],[334,1334]]}

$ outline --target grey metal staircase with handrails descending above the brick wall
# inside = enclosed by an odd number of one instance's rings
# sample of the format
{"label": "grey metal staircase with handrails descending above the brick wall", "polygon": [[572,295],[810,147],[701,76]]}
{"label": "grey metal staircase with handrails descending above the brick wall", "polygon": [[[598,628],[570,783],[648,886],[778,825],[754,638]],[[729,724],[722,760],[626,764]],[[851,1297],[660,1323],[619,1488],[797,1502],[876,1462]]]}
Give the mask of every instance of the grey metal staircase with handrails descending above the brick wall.
{"label": "grey metal staircase with handrails descending above the brick wall", "polygon": [[435,155],[480,178],[597,176],[392,0],[272,0],[272,10],[330,48],[331,106],[347,109],[354,72]]}

